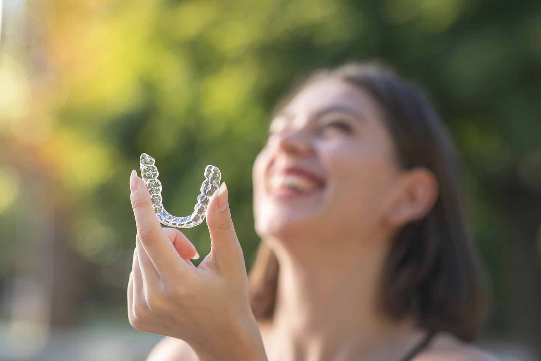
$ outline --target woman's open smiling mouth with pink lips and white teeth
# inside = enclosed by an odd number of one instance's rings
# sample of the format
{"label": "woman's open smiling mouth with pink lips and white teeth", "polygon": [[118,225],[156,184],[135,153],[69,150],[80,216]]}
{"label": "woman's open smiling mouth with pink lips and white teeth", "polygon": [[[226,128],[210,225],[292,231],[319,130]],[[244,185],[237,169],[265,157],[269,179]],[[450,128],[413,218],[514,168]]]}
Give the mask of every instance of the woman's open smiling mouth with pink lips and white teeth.
{"label": "woman's open smiling mouth with pink lips and white teeth", "polygon": [[325,186],[325,179],[306,169],[285,168],[274,172],[267,182],[268,190],[275,195],[309,194]]}

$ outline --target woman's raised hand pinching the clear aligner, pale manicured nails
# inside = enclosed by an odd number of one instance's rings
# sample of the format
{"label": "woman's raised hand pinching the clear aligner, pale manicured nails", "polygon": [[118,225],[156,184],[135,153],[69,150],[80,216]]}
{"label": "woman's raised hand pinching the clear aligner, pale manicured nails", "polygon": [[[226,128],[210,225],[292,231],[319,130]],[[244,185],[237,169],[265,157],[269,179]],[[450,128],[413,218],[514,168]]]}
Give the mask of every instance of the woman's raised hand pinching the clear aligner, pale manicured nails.
{"label": "woman's raised hand pinching the clear aligner, pale manicured nails", "polygon": [[198,267],[187,260],[196,254],[193,244],[177,229],[161,227],[135,170],[130,189],[137,226],[128,282],[130,324],[183,339],[200,358],[266,359],[225,183],[207,208],[211,250]]}

